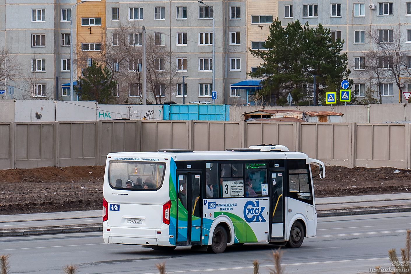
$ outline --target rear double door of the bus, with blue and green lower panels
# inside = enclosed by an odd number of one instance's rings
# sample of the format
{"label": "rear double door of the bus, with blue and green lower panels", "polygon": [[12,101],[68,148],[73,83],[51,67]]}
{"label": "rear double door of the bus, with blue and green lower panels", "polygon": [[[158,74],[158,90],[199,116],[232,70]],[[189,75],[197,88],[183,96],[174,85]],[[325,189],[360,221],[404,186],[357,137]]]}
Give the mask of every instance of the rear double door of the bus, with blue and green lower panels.
{"label": "rear double door of the bus, with blue and green lower panels", "polygon": [[177,245],[201,244],[201,172],[178,172]]}

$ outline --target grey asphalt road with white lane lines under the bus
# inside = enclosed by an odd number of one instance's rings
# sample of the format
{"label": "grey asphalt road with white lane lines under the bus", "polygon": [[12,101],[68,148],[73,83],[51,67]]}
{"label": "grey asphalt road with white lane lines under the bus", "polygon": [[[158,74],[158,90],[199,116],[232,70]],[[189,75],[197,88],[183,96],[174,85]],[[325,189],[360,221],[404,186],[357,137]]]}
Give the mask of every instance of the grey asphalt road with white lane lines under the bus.
{"label": "grey asphalt road with white lane lines under the bus", "polygon": [[[411,229],[411,212],[319,218],[317,236],[299,249],[282,249],[286,273],[358,274],[370,268],[390,267],[388,249],[404,247]],[[139,246],[104,244],[101,233],[75,233],[0,238],[0,255],[10,254],[10,274],[60,274],[65,265],[77,265],[79,274],[158,273],[155,264],[166,261],[171,273],[260,273],[272,267],[269,244],[229,245],[225,253],[208,254],[178,247],[159,253]]]}

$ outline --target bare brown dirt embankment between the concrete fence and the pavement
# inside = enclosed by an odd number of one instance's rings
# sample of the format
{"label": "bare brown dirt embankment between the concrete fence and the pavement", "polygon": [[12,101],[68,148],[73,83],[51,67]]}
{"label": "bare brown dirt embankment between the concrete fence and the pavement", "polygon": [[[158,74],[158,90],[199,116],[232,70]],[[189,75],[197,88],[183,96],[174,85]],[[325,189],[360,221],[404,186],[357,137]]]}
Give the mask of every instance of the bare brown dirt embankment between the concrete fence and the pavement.
{"label": "bare brown dirt embankment between the concrete fence and the pavement", "polygon": [[[410,172],[327,166],[325,179],[314,176],[314,191],[316,197],[409,192]],[[0,170],[0,214],[99,210],[103,177],[104,166]]]}

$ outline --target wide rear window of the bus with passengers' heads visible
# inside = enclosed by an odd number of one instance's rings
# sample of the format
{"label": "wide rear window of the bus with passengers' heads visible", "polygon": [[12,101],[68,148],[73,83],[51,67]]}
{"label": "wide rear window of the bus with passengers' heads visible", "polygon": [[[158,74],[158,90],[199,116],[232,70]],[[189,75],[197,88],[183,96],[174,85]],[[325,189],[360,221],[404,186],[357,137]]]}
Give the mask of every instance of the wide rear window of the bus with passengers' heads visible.
{"label": "wide rear window of the bus with passengers' heads visible", "polygon": [[163,184],[165,163],[111,161],[109,184],[113,189],[153,191]]}

